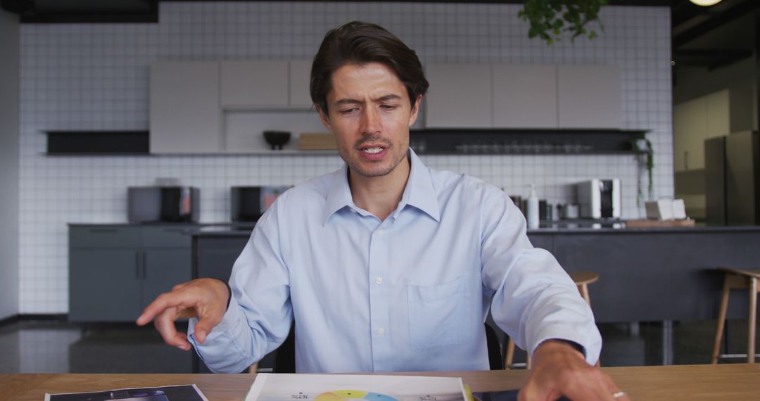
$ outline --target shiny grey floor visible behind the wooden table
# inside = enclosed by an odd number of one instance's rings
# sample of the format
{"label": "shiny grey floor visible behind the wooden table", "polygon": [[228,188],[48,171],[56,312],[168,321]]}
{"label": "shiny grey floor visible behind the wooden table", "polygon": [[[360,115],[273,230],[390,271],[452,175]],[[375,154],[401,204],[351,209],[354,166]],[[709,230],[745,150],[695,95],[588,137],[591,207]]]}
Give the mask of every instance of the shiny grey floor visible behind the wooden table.
{"label": "shiny grey floor visible behind the wooden table", "polygon": [[[600,324],[603,366],[710,362],[714,320]],[[746,320],[728,325],[729,351],[746,350]],[[0,327],[0,373],[192,373],[192,354],[153,327],[24,320]],[[524,359],[519,352],[515,362]],[[729,360],[725,362],[744,362]]]}

